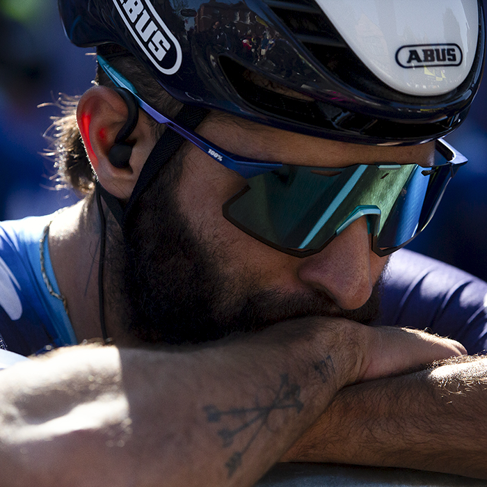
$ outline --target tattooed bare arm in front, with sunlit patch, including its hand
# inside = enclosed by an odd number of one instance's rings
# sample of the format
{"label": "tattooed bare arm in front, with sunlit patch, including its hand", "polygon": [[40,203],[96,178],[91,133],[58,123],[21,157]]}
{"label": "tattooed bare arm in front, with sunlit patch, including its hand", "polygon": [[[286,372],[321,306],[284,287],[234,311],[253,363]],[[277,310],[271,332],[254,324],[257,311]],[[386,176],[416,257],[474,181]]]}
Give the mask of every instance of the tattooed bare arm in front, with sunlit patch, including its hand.
{"label": "tattooed bare arm in front, with sunlit patch, including its hand", "polygon": [[250,486],[344,385],[456,342],[306,319],[205,349],[79,347],[0,382],[4,486]]}

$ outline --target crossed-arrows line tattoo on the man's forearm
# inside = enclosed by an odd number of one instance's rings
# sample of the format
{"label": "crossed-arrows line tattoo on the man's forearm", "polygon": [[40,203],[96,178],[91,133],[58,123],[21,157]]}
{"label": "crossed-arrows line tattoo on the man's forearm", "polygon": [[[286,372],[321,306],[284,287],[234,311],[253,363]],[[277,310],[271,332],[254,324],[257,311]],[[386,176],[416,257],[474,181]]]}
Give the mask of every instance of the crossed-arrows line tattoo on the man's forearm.
{"label": "crossed-arrows line tattoo on the man's forearm", "polygon": [[269,406],[260,406],[258,399],[256,399],[256,404],[253,408],[221,410],[213,404],[203,408],[207,414],[207,421],[209,423],[219,423],[223,422],[225,418],[231,418],[229,423],[233,423],[234,426],[224,426],[218,431],[218,436],[223,440],[224,448],[231,447],[236,436],[244,436],[246,433],[250,434],[250,438],[248,438],[244,447],[234,452],[228,458],[227,463],[225,463],[225,467],[228,470],[228,478],[232,477],[237,468],[239,468],[242,463],[242,457],[250,448],[255,438],[257,438],[262,428],[268,424],[269,416],[273,411],[295,409],[297,413],[301,412],[303,403],[299,400],[300,392],[301,388],[299,385],[289,384],[289,376],[282,374],[276,396]]}

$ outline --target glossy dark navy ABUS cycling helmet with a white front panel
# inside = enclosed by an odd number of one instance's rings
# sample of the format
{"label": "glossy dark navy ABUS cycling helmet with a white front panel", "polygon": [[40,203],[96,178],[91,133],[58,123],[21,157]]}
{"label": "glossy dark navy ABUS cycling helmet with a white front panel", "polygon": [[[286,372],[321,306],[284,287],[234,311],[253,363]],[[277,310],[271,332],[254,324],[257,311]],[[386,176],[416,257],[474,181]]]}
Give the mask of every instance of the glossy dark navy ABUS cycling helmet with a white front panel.
{"label": "glossy dark navy ABUS cycling helmet with a white front panel", "polygon": [[[125,47],[181,102],[341,141],[445,136],[483,70],[481,0],[58,3],[75,45]],[[304,96],[259,86],[249,72]]]}

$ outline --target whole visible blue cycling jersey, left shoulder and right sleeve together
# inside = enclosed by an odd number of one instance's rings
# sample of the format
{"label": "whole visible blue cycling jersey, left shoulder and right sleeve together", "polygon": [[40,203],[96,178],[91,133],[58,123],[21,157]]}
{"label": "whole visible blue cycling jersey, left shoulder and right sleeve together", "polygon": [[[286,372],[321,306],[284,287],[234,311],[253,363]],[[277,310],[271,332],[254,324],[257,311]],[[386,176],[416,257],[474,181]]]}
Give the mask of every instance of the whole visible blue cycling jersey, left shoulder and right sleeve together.
{"label": "whole visible blue cycling jersey, left shoulder and right sleeve together", "polygon": [[[40,239],[52,218],[0,223],[0,348],[24,356],[77,342],[63,303],[49,293],[40,269]],[[45,271],[59,293],[45,240]],[[404,249],[392,255],[386,273],[376,324],[431,328],[469,353],[487,348],[486,282]]]}

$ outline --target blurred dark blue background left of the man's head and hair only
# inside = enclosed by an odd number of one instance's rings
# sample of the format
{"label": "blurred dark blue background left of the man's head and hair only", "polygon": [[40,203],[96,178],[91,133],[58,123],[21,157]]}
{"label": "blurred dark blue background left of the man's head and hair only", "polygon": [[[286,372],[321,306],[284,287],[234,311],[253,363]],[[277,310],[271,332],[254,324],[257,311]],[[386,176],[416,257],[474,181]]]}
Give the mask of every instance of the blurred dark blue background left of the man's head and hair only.
{"label": "blurred dark blue background left of the man's head and hair only", "polygon": [[[92,49],[93,51],[93,49]],[[42,134],[59,93],[90,87],[95,62],[65,38],[56,0],[0,0],[0,219],[48,214],[76,200],[54,191]]]}

